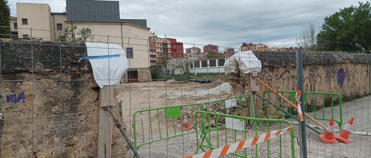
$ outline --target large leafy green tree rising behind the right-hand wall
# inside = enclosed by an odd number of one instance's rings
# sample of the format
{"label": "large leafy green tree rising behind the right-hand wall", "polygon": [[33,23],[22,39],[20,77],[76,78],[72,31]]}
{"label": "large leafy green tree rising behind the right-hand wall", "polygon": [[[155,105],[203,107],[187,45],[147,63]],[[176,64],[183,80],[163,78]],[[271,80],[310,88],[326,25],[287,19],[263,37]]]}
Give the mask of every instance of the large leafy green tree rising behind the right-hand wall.
{"label": "large leafy green tree rising behind the right-hand wall", "polygon": [[371,51],[370,2],[358,3],[325,18],[317,35],[320,51]]}

